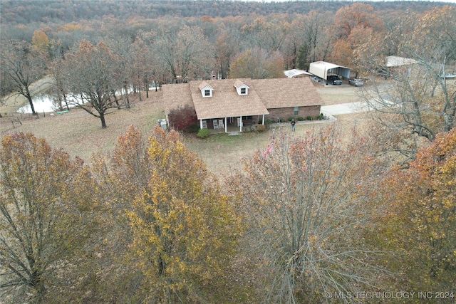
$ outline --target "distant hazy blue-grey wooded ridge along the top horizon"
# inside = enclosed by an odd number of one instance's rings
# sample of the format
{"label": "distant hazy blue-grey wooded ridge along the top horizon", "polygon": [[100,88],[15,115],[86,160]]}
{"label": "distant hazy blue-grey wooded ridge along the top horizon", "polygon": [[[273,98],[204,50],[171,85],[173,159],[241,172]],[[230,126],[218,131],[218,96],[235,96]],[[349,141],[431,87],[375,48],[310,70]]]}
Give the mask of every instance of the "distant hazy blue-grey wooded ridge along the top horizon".
{"label": "distant hazy blue-grey wooded ridge along the top horizon", "polygon": [[[122,21],[132,17],[157,19],[164,16],[180,18],[202,16],[227,17],[257,14],[309,14],[310,11],[335,13],[351,1],[1,1],[1,24],[62,23],[103,19],[113,16]],[[445,3],[432,1],[371,2],[375,11],[401,11],[413,7],[425,11]]]}

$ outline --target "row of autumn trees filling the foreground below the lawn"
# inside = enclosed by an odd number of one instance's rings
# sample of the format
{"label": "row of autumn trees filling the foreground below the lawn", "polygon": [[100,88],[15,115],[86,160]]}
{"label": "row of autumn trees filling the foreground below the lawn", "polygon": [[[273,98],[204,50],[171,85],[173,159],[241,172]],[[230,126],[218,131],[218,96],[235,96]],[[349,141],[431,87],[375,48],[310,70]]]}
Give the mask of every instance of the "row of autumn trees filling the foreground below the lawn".
{"label": "row of autumn trees filling the foreground below the lawn", "polygon": [[289,135],[223,180],[160,127],[148,139],[130,127],[87,164],[31,134],[4,137],[2,303],[454,300],[455,129],[407,170],[385,170],[355,129]]}

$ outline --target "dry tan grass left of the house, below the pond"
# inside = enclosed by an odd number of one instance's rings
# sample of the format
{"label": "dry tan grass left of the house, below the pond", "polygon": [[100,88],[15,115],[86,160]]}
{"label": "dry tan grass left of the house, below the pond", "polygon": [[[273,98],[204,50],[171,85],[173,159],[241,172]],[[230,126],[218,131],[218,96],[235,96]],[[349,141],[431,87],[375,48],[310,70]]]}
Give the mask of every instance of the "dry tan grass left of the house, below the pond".
{"label": "dry tan grass left of the house, below the pond", "polygon": [[[132,98],[130,109],[112,109],[106,115],[106,127],[101,128],[100,119],[83,110],[71,110],[61,115],[33,117],[32,115],[7,115],[0,118],[0,132],[3,137],[15,132],[31,132],[45,138],[52,147],[63,148],[73,157],[78,155],[89,159],[93,152],[112,150],[119,135],[135,125],[147,135],[157,125],[157,119],[165,118],[162,110],[161,93],[150,93],[150,97],[138,101]],[[135,100],[136,99],[136,100]],[[19,125],[17,118],[21,118]],[[13,123],[14,122],[14,126]]]}

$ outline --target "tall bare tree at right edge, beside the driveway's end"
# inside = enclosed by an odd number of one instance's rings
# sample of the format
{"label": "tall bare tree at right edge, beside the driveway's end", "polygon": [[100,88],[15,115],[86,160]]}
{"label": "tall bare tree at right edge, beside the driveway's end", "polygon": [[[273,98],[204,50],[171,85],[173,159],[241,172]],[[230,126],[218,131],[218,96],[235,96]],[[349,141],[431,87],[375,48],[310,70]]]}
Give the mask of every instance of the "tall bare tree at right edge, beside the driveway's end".
{"label": "tall bare tree at right edge, beside the driveway's end", "polygon": [[358,48],[358,60],[374,75],[363,97],[376,120],[408,137],[407,149],[398,149],[408,157],[415,157],[417,136],[432,142],[455,126],[456,87],[446,78],[456,64],[455,19],[450,7],[410,18],[413,31],[400,42],[395,63],[385,57],[386,42],[376,44],[378,36]]}

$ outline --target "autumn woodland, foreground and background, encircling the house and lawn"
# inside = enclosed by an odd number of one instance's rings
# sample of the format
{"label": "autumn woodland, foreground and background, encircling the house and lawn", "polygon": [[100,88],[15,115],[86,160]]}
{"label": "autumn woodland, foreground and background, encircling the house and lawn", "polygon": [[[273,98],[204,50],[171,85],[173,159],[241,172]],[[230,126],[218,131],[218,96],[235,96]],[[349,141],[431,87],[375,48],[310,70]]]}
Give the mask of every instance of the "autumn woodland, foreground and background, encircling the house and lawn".
{"label": "autumn woodland, foreground and background, encircling the house and lawn", "polygon": [[314,61],[364,78],[371,110],[367,130],[274,132],[267,153],[227,176],[180,130],[132,126],[87,162],[33,134],[4,135],[0,302],[454,302],[456,6],[0,5],[1,95],[34,111],[31,84],[49,78],[58,108],[85,110],[100,132],[151,85],[281,78]]}

